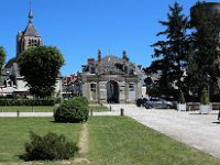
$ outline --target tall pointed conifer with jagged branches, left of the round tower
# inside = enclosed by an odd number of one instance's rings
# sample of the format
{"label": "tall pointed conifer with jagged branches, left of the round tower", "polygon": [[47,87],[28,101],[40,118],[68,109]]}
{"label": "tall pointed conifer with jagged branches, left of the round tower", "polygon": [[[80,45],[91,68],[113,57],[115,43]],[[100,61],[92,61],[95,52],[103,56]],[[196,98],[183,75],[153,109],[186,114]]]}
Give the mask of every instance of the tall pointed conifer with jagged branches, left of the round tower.
{"label": "tall pointed conifer with jagged branches, left of the round tower", "polygon": [[153,57],[157,59],[147,69],[161,72],[160,86],[164,88],[167,88],[170,82],[178,89],[185,88],[184,78],[190,44],[187,34],[189,22],[182,12],[183,7],[177,2],[174,7],[169,6],[167,21],[160,21],[166,29],[157,34],[157,36],[164,35],[166,41],[158,41],[152,45]]}

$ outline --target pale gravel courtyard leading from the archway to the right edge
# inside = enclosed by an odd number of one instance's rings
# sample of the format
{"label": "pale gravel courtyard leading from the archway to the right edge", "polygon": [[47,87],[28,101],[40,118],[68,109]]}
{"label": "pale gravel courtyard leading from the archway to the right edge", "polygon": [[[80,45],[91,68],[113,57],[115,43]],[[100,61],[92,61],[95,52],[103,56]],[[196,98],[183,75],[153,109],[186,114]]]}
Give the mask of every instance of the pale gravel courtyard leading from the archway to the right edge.
{"label": "pale gravel courtyard leading from the archway to the right edge", "polygon": [[120,109],[123,108],[125,116],[140,123],[220,158],[218,111],[199,114],[198,111],[147,110],[135,105],[111,105],[111,108],[112,112],[106,112],[107,114],[120,114]]}

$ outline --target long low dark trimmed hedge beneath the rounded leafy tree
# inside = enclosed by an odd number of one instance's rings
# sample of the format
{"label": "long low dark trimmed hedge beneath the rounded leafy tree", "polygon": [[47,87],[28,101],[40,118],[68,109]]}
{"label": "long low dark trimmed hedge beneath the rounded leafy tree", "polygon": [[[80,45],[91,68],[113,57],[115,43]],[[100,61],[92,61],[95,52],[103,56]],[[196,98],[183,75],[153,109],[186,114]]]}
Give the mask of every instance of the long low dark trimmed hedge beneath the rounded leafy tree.
{"label": "long low dark trimmed hedge beneath the rounded leafy tree", "polygon": [[54,106],[55,99],[0,99],[0,106]]}

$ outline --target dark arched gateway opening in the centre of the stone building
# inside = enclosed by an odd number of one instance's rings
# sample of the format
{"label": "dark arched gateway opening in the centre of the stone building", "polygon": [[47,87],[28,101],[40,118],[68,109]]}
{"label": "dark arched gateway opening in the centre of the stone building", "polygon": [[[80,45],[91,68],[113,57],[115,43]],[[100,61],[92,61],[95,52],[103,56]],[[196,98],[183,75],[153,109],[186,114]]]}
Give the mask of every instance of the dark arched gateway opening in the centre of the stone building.
{"label": "dark arched gateway opening in the centre of the stone building", "polygon": [[107,82],[107,102],[119,103],[119,85],[114,80]]}

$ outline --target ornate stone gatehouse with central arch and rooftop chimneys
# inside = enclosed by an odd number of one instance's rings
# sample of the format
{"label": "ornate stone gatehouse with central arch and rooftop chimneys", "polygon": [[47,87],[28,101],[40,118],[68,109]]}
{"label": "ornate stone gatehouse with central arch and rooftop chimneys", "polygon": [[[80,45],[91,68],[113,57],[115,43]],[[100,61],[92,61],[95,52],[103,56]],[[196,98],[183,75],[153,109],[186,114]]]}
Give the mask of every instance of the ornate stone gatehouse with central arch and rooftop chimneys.
{"label": "ornate stone gatehouse with central arch and rooftop chimneys", "polygon": [[92,103],[134,103],[142,97],[141,66],[113,55],[88,58],[82,65],[82,96]]}

